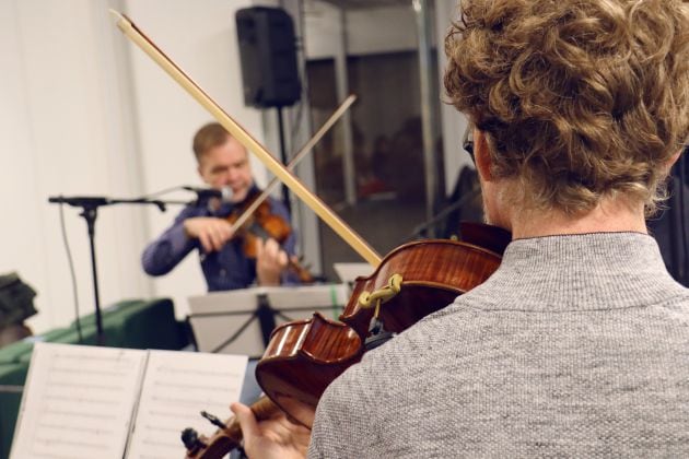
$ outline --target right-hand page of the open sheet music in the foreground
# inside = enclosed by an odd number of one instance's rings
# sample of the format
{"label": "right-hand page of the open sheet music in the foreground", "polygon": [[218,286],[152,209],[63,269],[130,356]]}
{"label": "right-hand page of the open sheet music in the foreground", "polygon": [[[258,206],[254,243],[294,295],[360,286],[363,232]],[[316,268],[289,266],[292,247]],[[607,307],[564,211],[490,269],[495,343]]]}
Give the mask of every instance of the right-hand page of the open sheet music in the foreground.
{"label": "right-hand page of the open sheet music in the foreground", "polygon": [[240,400],[248,357],[197,352],[150,351],[129,442],[128,458],[182,458],[182,431],[210,436],[218,427],[200,411],[225,421]]}

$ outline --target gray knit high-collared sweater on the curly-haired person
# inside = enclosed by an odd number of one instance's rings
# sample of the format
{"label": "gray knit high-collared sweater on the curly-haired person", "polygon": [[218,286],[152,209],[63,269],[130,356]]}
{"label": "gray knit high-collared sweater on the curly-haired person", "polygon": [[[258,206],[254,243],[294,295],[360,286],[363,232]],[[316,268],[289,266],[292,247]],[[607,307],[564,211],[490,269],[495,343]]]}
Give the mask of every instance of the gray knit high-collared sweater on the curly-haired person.
{"label": "gray knit high-collared sweater on the curly-haired person", "polygon": [[647,235],[513,242],[330,385],[310,457],[689,458],[689,290]]}

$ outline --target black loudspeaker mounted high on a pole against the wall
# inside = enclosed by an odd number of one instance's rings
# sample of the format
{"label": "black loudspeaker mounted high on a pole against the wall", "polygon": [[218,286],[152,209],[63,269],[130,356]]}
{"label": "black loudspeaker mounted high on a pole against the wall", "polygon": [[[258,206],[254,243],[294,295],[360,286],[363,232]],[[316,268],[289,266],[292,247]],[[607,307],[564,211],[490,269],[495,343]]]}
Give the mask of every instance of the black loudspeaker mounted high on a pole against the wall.
{"label": "black loudspeaker mounted high on a pole against the wall", "polygon": [[254,7],[235,15],[244,103],[253,107],[284,107],[301,97],[296,39],[290,15],[280,8]]}

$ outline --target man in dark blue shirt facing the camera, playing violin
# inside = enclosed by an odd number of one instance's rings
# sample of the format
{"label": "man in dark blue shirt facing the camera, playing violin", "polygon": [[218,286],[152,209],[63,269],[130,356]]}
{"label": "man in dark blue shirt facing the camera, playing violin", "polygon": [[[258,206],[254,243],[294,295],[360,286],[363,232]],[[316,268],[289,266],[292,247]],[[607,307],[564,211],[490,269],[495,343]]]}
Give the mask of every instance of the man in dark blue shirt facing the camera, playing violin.
{"label": "man in dark blue shirt facing the camera, playing violin", "polygon": [[[252,250],[250,255],[244,242],[232,233],[227,215],[243,209],[258,193],[246,149],[217,122],[198,130],[192,149],[203,181],[218,190],[229,187],[230,202],[199,200],[186,207],[172,226],[145,248],[143,270],[150,275],[166,274],[191,250],[198,249],[209,291],[244,289],[254,282],[259,285],[296,282],[287,271],[289,257],[294,256],[293,233],[282,246],[272,238],[264,242],[254,237],[255,254]],[[268,198],[267,202],[273,215],[290,221],[280,201]]]}

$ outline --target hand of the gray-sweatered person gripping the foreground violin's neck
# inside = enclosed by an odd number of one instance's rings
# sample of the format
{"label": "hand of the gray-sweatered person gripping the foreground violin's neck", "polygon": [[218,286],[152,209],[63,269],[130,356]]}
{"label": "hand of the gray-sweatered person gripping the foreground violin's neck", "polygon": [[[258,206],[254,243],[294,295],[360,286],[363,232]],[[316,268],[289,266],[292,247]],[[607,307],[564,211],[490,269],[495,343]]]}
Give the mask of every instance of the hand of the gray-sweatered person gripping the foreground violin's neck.
{"label": "hand of the gray-sweatered person gripping the foreground violin's neck", "polygon": [[288,420],[279,411],[275,416],[258,422],[252,410],[242,403],[230,407],[242,427],[244,451],[252,459],[305,458],[311,431]]}

